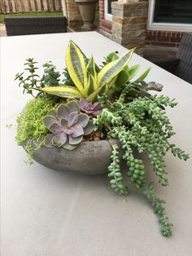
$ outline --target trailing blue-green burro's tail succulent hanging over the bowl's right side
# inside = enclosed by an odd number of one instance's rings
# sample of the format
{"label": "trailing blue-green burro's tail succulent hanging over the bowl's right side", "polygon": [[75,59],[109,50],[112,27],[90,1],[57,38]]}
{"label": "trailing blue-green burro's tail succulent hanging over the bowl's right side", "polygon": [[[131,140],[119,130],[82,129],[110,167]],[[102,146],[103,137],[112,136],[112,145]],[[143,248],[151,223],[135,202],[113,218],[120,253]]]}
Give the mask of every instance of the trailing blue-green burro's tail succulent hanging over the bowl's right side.
{"label": "trailing blue-green burro's tail succulent hanging over the bowl's right side", "polygon": [[[119,139],[122,148],[124,148],[123,159],[126,161],[129,170],[127,175],[133,186],[139,189],[155,209],[159,216],[159,222],[162,224],[162,233],[164,236],[171,236],[172,223],[164,213],[164,201],[155,196],[153,183],[148,184],[146,179],[146,167],[141,159],[133,155],[133,148],[138,152],[146,152],[151,160],[151,165],[155,174],[159,177],[159,183],[168,186],[166,171],[164,170],[164,155],[171,149],[172,153],[180,159],[187,160],[189,156],[174,144],[168,143],[168,139],[174,135],[172,126],[163,106],[176,106],[174,99],[169,99],[163,95],[137,97],[132,101],[127,101],[129,95],[129,86],[124,89],[120,98],[114,102],[107,102],[107,108],[94,123],[100,127],[106,126],[109,138]],[[104,105],[107,97],[99,97],[98,101]],[[117,146],[112,145],[111,166],[109,166],[109,177],[111,187],[119,192],[120,195],[126,195],[123,185],[123,175],[120,172]],[[116,173],[120,179],[116,179]],[[121,188],[121,189],[120,189]]]}

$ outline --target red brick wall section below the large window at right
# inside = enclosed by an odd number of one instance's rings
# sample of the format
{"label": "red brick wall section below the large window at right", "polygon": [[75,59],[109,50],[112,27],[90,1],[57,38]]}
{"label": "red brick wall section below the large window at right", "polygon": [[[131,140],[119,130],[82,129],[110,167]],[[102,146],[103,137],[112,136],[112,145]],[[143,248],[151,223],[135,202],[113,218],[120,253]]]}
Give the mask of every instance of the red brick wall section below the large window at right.
{"label": "red brick wall section below the large window at right", "polygon": [[172,31],[146,31],[146,45],[178,47],[183,33]]}

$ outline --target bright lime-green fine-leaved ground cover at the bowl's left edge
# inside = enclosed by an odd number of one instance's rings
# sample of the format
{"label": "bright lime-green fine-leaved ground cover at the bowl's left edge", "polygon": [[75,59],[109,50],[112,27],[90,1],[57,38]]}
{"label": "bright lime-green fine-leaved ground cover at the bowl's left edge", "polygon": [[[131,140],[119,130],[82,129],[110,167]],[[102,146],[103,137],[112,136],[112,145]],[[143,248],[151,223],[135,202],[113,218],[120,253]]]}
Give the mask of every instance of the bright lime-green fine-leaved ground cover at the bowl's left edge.
{"label": "bright lime-green fine-leaved ground cover at the bowl's left edge", "polygon": [[[32,163],[34,150],[37,150],[44,143],[46,135],[49,133],[43,124],[43,117],[59,104],[55,104],[50,99],[32,99],[26,104],[24,111],[17,117],[16,142],[28,152],[27,162]],[[36,143],[34,143],[34,141]]]}

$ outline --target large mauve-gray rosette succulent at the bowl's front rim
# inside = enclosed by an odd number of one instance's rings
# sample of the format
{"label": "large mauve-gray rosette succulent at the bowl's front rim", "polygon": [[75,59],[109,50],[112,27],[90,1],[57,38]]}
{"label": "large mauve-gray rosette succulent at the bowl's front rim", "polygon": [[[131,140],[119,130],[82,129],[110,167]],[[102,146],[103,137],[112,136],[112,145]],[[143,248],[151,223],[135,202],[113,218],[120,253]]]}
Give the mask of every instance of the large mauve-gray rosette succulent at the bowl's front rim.
{"label": "large mauve-gray rosette succulent at the bowl's front rim", "polygon": [[80,112],[80,105],[72,100],[50,111],[43,123],[51,134],[46,135],[46,147],[63,147],[72,150],[81,143],[84,135],[91,134],[96,126],[89,116]]}

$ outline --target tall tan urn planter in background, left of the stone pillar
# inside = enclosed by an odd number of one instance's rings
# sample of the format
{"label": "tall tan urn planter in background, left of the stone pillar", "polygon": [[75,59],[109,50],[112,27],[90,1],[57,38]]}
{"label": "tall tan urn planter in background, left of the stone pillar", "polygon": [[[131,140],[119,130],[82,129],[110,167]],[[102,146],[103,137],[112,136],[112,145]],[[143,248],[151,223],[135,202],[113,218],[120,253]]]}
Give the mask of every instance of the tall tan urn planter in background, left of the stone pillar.
{"label": "tall tan urn planter in background, left of the stone pillar", "polygon": [[75,0],[78,4],[81,19],[83,20],[83,28],[87,30],[94,29],[94,16],[96,12],[98,0]]}

